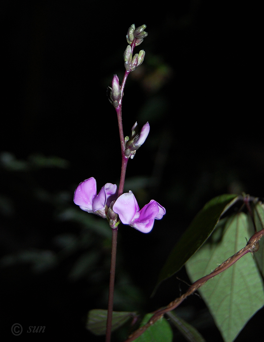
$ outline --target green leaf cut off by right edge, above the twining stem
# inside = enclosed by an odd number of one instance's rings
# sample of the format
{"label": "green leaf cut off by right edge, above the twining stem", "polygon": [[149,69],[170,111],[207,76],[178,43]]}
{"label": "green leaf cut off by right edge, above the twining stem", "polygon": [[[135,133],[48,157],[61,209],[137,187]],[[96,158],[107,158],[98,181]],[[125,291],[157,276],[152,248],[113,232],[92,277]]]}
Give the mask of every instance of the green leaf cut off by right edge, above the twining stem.
{"label": "green leaf cut off by right edge, above the twining stem", "polygon": [[[253,208],[254,222],[256,225],[257,232],[264,228],[264,205],[261,202],[256,203]],[[254,232],[252,232],[253,234]],[[256,258],[257,265],[264,277],[264,238],[259,240],[260,248],[254,253],[254,258]]]}

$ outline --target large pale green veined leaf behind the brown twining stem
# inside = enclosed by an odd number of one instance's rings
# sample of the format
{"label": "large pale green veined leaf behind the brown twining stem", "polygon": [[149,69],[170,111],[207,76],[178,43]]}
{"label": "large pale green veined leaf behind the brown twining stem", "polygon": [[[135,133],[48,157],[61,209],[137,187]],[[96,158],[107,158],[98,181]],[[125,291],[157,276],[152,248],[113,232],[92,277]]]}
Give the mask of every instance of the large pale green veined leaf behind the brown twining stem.
{"label": "large pale green veined leaf behind the brown twining stem", "polygon": [[[205,244],[186,263],[191,281],[211,273],[213,269],[243,248],[250,238],[248,217],[239,213],[227,220],[219,242]],[[224,272],[209,279],[200,289],[224,341],[232,342],[247,321],[263,306],[261,276],[251,253],[247,253]]]}

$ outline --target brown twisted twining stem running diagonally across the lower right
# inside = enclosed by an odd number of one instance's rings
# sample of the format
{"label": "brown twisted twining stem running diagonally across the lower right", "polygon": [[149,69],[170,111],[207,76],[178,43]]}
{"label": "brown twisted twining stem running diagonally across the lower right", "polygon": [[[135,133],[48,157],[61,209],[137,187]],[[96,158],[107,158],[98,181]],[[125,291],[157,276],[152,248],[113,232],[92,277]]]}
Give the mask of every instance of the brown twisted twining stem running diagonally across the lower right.
{"label": "brown twisted twining stem running diagonally across the lower right", "polygon": [[221,265],[216,267],[213,272],[210,274],[196,280],[188,289],[186,293],[181,295],[180,297],[176,298],[174,301],[169,303],[165,308],[160,308],[159,310],[156,310],[153,312],[153,316],[150,318],[148,323],[146,323],[144,326],[140,327],[138,330],[134,331],[127,340],[124,342],[131,342],[134,341],[136,338],[138,338],[144,331],[146,331],[151,325],[153,325],[158,319],[162,318],[163,315],[171,310],[174,310],[177,306],[180,305],[181,302],[185,300],[190,294],[192,294],[194,291],[198,290],[207,280],[213,278],[217,274],[225,271],[228,267],[233,265],[235,262],[238,261],[243,255],[247,254],[248,252],[255,252],[256,244],[258,244],[259,239],[264,235],[264,229],[261,229],[259,232],[255,233],[251,236],[249,239],[247,245],[242,248],[240,251],[238,251],[236,254],[232,255],[232,257],[225,260]]}

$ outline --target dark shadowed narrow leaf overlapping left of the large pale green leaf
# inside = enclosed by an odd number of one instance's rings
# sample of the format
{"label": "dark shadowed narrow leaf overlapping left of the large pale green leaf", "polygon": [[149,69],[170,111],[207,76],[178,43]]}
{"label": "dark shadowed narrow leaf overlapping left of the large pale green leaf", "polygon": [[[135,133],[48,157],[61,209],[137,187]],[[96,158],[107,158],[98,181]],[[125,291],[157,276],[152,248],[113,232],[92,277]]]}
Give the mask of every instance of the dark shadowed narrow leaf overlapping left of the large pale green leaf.
{"label": "dark shadowed narrow leaf overlapping left of the large pale green leaf", "polygon": [[160,283],[179,271],[186,261],[210,236],[219,217],[237,200],[237,195],[221,195],[211,199],[195,216],[190,226],[181,236],[161,269],[159,280],[152,294]]}

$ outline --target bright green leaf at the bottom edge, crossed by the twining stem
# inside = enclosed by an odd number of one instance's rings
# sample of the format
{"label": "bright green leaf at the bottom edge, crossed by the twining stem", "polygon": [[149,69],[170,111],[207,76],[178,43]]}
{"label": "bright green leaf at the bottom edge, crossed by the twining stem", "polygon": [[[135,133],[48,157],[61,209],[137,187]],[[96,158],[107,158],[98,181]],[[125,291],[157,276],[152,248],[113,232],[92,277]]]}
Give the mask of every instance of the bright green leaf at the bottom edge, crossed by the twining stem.
{"label": "bright green leaf at the bottom edge, crossed by the twining stem", "polygon": [[[148,323],[152,316],[153,314],[145,315],[140,326],[142,327]],[[173,333],[171,326],[165,318],[161,318],[135,339],[135,342],[172,342],[172,339]]]}

